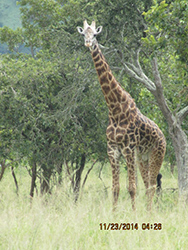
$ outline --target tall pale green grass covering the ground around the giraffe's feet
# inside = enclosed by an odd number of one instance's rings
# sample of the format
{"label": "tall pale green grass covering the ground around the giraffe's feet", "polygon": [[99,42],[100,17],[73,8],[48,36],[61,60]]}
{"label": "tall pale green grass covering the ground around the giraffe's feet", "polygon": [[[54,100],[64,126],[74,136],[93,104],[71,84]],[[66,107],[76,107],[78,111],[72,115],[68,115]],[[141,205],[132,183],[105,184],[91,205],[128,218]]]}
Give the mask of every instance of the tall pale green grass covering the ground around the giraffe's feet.
{"label": "tall pale green grass covering the ground around the giraffe's feet", "polygon": [[[177,178],[162,169],[163,194],[153,211],[145,209],[144,187],[138,176],[137,211],[131,209],[126,189],[126,172],[121,169],[121,193],[117,211],[112,213],[111,172],[106,165],[102,178],[98,178],[98,166],[88,177],[84,192],[77,206],[66,183],[54,188],[49,197],[28,197],[30,179],[22,170],[17,171],[19,197],[11,174],[0,183],[0,249],[187,249],[188,209],[177,201]],[[176,174],[175,174],[176,176]],[[102,230],[100,223],[102,224]],[[122,228],[138,223],[138,230],[104,230],[109,223]],[[145,224],[153,226],[148,230]],[[156,225],[154,223],[157,223]],[[160,230],[160,224],[162,229]],[[112,227],[110,224],[110,228]],[[126,226],[126,227],[125,227]],[[156,229],[154,230],[154,226]],[[116,224],[114,225],[116,228]]]}

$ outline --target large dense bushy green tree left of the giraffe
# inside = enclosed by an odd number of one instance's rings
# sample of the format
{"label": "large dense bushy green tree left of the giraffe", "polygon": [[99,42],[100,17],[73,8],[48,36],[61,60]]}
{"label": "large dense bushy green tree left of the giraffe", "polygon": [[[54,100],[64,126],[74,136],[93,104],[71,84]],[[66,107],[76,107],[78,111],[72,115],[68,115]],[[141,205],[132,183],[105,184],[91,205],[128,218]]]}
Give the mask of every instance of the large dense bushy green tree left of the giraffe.
{"label": "large dense bushy green tree left of the giraffe", "polygon": [[[10,136],[3,148],[9,142],[19,159],[26,159],[31,196],[39,171],[41,193],[49,192],[53,173],[71,162],[77,200],[86,160],[106,155],[102,95],[89,86],[74,35],[61,22],[62,6],[56,1],[20,5],[23,28],[0,30],[1,40],[14,52],[1,57],[1,139]],[[20,53],[18,43],[30,47],[31,54]]]}

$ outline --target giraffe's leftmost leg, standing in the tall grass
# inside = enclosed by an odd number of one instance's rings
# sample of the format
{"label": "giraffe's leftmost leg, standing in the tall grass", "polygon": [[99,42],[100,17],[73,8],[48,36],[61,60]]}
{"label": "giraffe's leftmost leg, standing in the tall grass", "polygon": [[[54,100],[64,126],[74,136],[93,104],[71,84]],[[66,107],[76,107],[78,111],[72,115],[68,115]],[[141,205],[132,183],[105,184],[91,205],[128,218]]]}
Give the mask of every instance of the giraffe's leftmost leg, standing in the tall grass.
{"label": "giraffe's leftmost leg, standing in the tall grass", "polygon": [[120,152],[115,144],[108,143],[108,157],[112,168],[112,194],[113,194],[113,210],[117,206],[119,197],[119,157]]}

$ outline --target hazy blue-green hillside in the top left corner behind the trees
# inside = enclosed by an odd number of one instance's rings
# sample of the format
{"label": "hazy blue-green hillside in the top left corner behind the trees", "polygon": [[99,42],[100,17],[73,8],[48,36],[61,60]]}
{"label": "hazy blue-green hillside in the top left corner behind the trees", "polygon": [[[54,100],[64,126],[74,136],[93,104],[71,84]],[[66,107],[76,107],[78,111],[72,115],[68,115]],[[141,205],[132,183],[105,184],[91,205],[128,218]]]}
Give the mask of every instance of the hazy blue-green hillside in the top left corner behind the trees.
{"label": "hazy blue-green hillside in the top left corner behind the trees", "polygon": [[[0,27],[8,26],[16,29],[21,26],[19,6],[17,0],[1,0],[0,1]],[[0,53],[7,52],[7,46],[0,44]]]}

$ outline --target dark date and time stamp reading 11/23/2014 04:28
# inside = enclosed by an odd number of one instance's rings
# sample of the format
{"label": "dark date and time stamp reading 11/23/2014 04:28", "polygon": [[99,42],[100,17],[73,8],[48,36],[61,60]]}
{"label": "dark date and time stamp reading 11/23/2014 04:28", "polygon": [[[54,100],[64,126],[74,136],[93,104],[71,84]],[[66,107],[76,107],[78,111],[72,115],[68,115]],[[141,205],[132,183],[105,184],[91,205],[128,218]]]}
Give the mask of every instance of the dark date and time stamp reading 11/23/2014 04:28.
{"label": "dark date and time stamp reading 11/23/2014 04:28", "polygon": [[161,223],[100,223],[100,230],[162,230]]}

